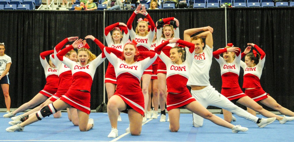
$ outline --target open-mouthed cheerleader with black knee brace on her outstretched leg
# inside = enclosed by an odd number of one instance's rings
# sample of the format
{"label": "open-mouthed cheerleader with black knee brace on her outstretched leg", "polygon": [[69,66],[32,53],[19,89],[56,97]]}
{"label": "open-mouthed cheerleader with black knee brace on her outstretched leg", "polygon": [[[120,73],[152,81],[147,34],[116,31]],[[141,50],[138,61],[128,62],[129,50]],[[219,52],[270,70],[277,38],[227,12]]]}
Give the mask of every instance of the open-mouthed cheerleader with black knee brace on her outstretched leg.
{"label": "open-mouthed cheerleader with black knee brace on her outstretched leg", "polygon": [[[95,40],[91,35],[85,37]],[[74,62],[70,59],[64,57],[64,55],[69,52],[71,49],[83,47],[82,39],[76,40],[72,45],[66,47],[57,53],[58,59],[68,66],[72,71],[72,84],[69,90],[65,95],[60,97],[58,100],[49,104],[48,106],[43,107],[39,112],[36,113],[33,117],[29,117],[28,120],[11,126],[6,129],[6,131],[23,131],[24,126],[31,123],[37,122],[43,119],[46,116],[54,114],[59,110],[63,110],[67,107],[73,106],[78,111],[78,125],[80,131],[88,131],[94,126],[93,119],[89,119],[90,114],[90,92],[91,85],[93,82],[93,77],[96,71],[96,68],[103,62],[105,57],[100,54],[97,58],[93,55],[88,49],[80,48],[78,50],[78,61]]]}

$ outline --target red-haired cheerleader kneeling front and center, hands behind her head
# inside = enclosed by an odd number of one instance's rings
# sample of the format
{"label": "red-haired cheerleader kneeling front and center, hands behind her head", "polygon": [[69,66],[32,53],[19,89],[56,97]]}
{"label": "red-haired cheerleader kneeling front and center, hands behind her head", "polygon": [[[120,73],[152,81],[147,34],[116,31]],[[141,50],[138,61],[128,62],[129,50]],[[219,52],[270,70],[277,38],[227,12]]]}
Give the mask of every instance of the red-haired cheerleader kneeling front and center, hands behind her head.
{"label": "red-haired cheerleader kneeling front and center, hands behind her head", "polygon": [[[140,135],[144,116],[144,97],[140,88],[140,79],[143,71],[147,69],[157,58],[154,52],[138,52],[137,46],[127,43],[123,52],[105,47],[104,53],[114,66],[117,88],[107,104],[107,113],[111,124],[111,132],[108,138],[116,138],[117,111],[128,113],[130,126],[126,129],[132,135]],[[143,59],[138,61],[138,58]]]}

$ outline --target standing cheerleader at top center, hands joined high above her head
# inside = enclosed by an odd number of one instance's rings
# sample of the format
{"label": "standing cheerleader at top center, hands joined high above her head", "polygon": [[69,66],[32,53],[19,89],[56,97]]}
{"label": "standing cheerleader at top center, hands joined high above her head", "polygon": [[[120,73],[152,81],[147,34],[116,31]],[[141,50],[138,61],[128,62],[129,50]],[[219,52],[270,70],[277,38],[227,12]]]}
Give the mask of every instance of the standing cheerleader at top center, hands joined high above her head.
{"label": "standing cheerleader at top center, hands joined high above her head", "polygon": [[[152,18],[147,13],[145,6],[143,5],[142,10],[140,10],[141,7],[142,7],[141,4],[139,4],[137,6],[136,10],[133,12],[132,16],[129,18],[128,23],[127,23],[128,32],[130,33],[131,40],[134,40],[135,42],[137,42],[139,52],[150,50],[153,36],[154,36],[154,32],[155,32],[155,24],[154,24]],[[132,23],[138,13],[146,16],[146,18],[148,19],[148,22],[151,25],[150,32],[148,32],[148,23],[145,20],[143,20],[142,18],[141,18],[142,20],[140,20],[137,24],[136,32],[133,30]],[[141,59],[138,59],[138,61],[140,61],[140,60]],[[151,80],[151,75],[152,75],[152,66],[148,67],[144,71],[143,76],[142,76],[142,92],[143,92],[144,101],[145,101],[145,110],[144,110],[145,113],[147,113],[146,109],[147,109],[147,105],[148,105],[148,85]],[[143,122],[145,123],[146,120],[147,120],[147,118],[144,117]]]}

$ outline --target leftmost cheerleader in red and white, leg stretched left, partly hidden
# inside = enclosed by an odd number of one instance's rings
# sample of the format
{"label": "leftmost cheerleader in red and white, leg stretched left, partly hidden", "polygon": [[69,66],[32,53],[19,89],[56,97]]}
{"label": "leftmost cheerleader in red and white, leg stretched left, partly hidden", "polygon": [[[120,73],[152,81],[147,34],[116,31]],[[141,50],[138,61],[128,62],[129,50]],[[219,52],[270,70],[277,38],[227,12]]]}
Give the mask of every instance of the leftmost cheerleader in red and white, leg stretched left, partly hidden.
{"label": "leftmost cheerleader in red and white, leg stretched left, partly hidden", "polygon": [[[42,52],[40,54],[40,61],[41,61],[41,64],[44,68],[45,76],[46,76],[46,84],[44,86],[44,89],[41,90],[37,95],[35,95],[35,97],[33,97],[29,102],[24,103],[15,111],[4,114],[3,117],[5,117],[5,118],[14,117],[15,114],[17,114],[19,112],[23,112],[23,111],[30,109],[32,107],[35,107],[36,105],[40,104],[41,102],[46,101],[49,97],[51,97],[53,94],[55,94],[57,92],[58,82],[59,82],[57,68],[53,64],[51,59],[49,60],[49,64],[48,64],[48,62],[46,61],[46,58],[45,58],[46,56],[53,54],[53,53],[54,53],[54,50],[49,50],[49,51]],[[21,114],[15,118],[13,118],[12,120],[22,119],[24,116],[26,116],[26,115]]]}

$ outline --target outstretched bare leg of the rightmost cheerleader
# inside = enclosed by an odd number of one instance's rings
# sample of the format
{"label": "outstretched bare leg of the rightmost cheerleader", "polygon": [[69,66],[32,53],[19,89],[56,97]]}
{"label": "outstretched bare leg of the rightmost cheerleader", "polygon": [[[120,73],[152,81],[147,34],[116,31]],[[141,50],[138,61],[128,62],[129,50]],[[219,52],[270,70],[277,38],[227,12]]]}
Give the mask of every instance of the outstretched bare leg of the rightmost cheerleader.
{"label": "outstretched bare leg of the rightmost cheerleader", "polygon": [[292,112],[291,110],[286,109],[285,107],[282,107],[270,95],[268,95],[268,98],[265,98],[265,99],[261,100],[260,102],[263,103],[264,105],[274,109],[274,110],[277,110],[278,112],[280,112],[283,115],[291,116],[291,117],[294,116],[294,112]]}

